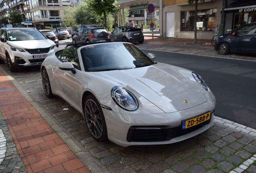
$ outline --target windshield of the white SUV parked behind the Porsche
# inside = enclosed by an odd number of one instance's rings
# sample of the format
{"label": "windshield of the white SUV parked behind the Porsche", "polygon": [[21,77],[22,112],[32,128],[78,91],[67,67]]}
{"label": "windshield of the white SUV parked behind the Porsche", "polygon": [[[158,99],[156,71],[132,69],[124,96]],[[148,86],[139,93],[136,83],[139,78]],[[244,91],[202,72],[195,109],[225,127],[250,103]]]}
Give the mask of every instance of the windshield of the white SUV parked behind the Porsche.
{"label": "windshield of the white SUV parked behind the Porsche", "polygon": [[31,29],[31,30],[8,30],[8,40],[9,41],[22,41],[22,40],[45,40],[43,34],[38,30]]}

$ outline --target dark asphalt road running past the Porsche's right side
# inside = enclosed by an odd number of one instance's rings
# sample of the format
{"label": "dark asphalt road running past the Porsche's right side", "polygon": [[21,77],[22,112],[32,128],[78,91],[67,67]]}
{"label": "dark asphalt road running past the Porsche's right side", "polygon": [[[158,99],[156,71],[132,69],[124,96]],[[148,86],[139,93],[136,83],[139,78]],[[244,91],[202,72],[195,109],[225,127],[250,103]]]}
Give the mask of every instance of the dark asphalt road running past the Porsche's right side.
{"label": "dark asphalt road running past the Porsche's right side", "polygon": [[143,51],[154,53],[158,62],[200,74],[215,94],[216,116],[256,129],[256,61]]}

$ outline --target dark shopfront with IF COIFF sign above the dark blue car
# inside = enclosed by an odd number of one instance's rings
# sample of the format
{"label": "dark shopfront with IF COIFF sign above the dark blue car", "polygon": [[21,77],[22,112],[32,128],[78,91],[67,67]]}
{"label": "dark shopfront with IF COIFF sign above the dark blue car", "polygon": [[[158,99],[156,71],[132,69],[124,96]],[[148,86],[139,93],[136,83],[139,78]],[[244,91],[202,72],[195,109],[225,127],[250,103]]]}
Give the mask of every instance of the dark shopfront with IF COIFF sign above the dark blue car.
{"label": "dark shopfront with IF COIFF sign above the dark blue car", "polygon": [[225,33],[235,30],[240,26],[256,22],[255,0],[228,0],[224,9]]}

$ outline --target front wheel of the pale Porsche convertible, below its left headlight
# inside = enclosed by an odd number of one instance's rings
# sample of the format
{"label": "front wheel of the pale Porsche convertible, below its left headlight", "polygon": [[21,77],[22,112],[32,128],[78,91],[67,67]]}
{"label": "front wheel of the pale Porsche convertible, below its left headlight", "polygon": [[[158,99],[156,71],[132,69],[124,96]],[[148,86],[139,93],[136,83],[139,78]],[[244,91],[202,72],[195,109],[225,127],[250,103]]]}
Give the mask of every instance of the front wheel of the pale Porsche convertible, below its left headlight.
{"label": "front wheel of the pale Porsche convertible, below its left headlight", "polygon": [[101,105],[93,95],[85,98],[85,122],[92,137],[99,142],[107,141],[107,126]]}

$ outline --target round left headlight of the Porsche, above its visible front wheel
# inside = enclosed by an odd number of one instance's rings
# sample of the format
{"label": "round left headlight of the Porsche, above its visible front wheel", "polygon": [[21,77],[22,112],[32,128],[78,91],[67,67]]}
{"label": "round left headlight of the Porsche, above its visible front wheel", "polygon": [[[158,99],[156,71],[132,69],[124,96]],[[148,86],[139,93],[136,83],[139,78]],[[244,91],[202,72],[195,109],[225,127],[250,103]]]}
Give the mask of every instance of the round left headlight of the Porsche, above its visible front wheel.
{"label": "round left headlight of the Porsche, above its visible front wheel", "polygon": [[111,90],[111,97],[119,107],[126,111],[138,109],[138,101],[134,95],[122,87],[114,87]]}

